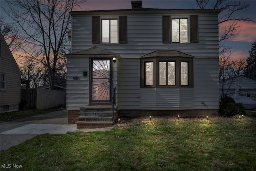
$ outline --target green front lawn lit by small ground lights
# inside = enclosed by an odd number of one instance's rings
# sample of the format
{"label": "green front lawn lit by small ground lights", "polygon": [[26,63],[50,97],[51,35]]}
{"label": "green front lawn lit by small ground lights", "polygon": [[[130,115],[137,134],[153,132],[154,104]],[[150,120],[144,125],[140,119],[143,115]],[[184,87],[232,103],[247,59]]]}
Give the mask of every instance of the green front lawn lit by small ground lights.
{"label": "green front lawn lit by small ground lights", "polygon": [[39,135],[1,152],[1,164],[29,171],[254,171],[255,144],[253,113],[241,120],[153,118],[108,132]]}

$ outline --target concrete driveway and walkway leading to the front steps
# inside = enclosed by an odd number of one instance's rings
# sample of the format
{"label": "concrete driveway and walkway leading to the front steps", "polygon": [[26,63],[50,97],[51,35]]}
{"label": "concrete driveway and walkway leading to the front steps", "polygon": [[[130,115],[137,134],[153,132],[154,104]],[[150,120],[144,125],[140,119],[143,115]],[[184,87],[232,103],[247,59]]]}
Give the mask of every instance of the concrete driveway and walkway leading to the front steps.
{"label": "concrete driveway and walkway leading to the front steps", "polygon": [[106,131],[111,128],[77,130],[76,124],[67,124],[68,112],[55,111],[17,119],[0,124],[0,151],[5,151],[40,134],[66,134],[74,131]]}

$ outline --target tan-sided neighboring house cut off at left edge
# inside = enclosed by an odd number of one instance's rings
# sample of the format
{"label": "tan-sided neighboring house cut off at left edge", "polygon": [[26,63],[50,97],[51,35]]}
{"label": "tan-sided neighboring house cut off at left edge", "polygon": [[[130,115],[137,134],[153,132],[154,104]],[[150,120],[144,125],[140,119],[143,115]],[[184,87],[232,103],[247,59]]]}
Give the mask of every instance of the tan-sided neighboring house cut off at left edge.
{"label": "tan-sided neighboring house cut off at left edge", "polygon": [[19,110],[21,72],[1,34],[1,113]]}

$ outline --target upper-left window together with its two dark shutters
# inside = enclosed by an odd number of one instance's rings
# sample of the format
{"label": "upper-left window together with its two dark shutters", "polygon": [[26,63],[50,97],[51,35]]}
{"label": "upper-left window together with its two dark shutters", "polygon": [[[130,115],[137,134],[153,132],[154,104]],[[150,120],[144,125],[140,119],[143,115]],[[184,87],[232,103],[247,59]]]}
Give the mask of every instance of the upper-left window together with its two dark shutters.
{"label": "upper-left window together with its two dark shutters", "polygon": [[127,43],[127,16],[92,17],[92,43]]}

